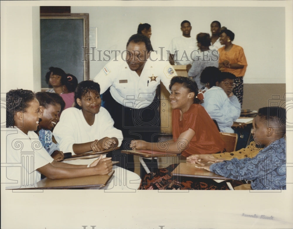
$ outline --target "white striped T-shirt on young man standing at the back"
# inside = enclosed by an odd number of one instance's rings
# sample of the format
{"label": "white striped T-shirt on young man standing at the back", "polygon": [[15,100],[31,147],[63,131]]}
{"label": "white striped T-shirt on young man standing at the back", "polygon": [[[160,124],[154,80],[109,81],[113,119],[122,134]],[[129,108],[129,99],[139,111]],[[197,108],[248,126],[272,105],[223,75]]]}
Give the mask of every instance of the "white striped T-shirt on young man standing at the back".
{"label": "white striped T-shirt on young man standing at the back", "polygon": [[183,35],[172,39],[168,50],[174,55],[175,65],[192,64],[193,51],[197,49],[196,42],[195,37],[184,37]]}

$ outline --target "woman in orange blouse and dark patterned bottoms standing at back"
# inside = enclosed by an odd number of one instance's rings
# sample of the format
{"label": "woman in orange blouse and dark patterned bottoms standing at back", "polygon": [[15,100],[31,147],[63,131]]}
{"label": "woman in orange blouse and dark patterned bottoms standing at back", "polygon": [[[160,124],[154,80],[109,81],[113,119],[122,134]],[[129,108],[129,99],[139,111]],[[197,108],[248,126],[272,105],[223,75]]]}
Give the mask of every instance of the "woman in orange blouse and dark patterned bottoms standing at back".
{"label": "woman in orange blouse and dark patterned bottoms standing at back", "polygon": [[243,48],[239,45],[232,44],[234,33],[231,30],[222,30],[220,43],[225,45],[219,48],[219,69],[230,72],[236,76],[236,87],[233,90],[234,95],[238,98],[241,106],[243,100],[243,76],[246,71],[247,62]]}

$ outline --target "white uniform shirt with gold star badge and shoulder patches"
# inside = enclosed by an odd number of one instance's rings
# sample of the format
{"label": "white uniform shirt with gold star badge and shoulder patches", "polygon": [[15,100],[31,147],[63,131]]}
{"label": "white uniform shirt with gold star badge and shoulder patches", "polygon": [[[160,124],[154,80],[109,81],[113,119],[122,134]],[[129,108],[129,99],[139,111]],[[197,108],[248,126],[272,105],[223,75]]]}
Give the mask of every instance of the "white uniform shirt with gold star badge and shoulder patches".
{"label": "white uniform shirt with gold star badge and shoulder patches", "polygon": [[176,71],[169,62],[151,52],[140,76],[128,67],[125,58],[117,58],[106,64],[93,80],[100,84],[101,94],[110,87],[110,93],[118,103],[140,109],[154,100],[160,81],[169,90],[173,76],[177,76]]}

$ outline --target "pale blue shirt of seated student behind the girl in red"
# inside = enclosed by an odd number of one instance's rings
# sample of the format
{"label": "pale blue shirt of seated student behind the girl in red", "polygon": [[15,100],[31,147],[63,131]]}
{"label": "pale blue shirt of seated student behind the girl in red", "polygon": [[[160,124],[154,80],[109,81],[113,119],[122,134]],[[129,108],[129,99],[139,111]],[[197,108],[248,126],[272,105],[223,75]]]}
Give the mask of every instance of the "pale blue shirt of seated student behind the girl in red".
{"label": "pale blue shirt of seated student behind the girl in red", "polygon": [[241,105],[235,95],[228,98],[222,88],[214,86],[205,92],[202,106],[217,121],[221,132],[234,133],[231,126],[241,112]]}

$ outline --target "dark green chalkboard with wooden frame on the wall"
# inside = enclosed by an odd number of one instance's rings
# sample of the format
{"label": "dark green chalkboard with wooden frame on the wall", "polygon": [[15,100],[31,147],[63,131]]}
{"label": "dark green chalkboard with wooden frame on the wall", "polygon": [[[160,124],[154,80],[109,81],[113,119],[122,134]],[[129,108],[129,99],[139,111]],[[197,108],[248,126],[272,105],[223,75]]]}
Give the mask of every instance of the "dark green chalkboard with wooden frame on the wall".
{"label": "dark green chalkboard with wooden frame on the wall", "polygon": [[88,44],[88,13],[40,16],[41,86],[48,88],[45,75],[49,67],[58,67],[76,76],[78,82],[89,79],[89,60],[84,59]]}

